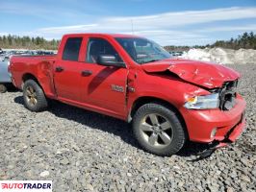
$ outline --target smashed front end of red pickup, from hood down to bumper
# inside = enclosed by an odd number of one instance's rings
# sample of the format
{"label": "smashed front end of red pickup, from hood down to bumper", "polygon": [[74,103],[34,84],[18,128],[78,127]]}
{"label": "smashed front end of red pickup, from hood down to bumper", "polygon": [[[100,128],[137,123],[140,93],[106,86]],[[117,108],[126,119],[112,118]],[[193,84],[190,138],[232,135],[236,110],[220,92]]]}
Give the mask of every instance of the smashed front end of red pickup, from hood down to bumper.
{"label": "smashed front end of red pickup, from hood down to bumper", "polygon": [[206,92],[189,92],[180,111],[191,141],[208,143],[198,154],[211,156],[234,142],[245,128],[245,101],[237,91],[240,74],[220,64],[197,60],[162,60],[142,65],[146,73],[169,73]]}

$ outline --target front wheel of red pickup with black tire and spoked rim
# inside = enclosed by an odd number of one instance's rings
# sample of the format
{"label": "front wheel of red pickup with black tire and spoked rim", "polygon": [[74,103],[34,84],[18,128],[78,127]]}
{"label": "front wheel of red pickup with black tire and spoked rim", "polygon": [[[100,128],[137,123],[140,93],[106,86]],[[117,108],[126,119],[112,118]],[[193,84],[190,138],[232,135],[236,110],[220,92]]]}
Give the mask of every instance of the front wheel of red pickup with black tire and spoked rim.
{"label": "front wheel of red pickup with black tire and spoked rim", "polygon": [[[151,117],[157,124],[152,123]],[[153,124],[155,126],[151,126]],[[174,111],[157,103],[141,106],[133,118],[133,131],[141,148],[157,156],[171,156],[179,152],[186,141],[185,129]]]}

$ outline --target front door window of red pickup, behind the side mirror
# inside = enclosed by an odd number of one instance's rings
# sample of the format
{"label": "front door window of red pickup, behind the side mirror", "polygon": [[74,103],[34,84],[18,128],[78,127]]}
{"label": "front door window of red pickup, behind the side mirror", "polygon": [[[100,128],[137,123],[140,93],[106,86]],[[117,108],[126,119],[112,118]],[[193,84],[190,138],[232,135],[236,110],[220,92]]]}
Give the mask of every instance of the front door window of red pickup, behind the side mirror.
{"label": "front door window of red pickup, behind the side mirror", "polygon": [[90,38],[87,50],[86,61],[90,63],[96,63],[100,55],[112,55],[117,61],[122,61],[115,48],[103,38]]}

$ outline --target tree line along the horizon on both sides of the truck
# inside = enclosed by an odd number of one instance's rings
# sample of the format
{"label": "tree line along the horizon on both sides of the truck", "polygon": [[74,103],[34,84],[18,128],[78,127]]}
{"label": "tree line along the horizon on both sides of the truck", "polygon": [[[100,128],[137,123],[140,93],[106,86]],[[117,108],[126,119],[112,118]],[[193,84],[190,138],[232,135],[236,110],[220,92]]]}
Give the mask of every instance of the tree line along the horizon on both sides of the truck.
{"label": "tree line along the horizon on both sides of the truck", "polygon": [[[43,37],[30,37],[30,36],[0,36],[0,48],[10,49],[46,49],[57,50],[60,40],[52,39],[46,40]],[[243,33],[243,35],[236,38],[230,38],[230,40],[217,40],[213,44],[207,44],[203,46],[165,46],[168,51],[188,51],[190,48],[206,48],[206,47],[222,47],[228,49],[256,49],[256,34],[253,32]]]}

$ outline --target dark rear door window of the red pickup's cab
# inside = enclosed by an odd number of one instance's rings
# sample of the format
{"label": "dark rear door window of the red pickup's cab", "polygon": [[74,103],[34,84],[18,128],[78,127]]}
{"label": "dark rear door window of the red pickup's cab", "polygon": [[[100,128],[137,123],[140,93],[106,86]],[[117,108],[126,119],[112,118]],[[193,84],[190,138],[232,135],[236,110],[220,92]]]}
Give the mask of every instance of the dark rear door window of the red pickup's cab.
{"label": "dark rear door window of the red pickup's cab", "polygon": [[82,37],[67,38],[64,45],[63,60],[78,60],[82,39]]}

